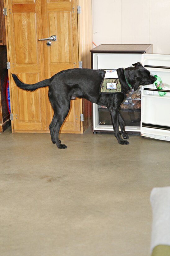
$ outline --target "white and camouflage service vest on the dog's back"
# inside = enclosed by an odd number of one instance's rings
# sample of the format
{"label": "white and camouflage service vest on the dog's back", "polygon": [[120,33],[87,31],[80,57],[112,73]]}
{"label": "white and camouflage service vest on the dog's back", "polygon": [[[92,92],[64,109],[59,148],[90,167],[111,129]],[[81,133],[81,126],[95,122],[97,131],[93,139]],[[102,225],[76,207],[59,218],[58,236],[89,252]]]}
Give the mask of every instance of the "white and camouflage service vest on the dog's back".
{"label": "white and camouflage service vest on the dog's back", "polygon": [[121,93],[122,88],[116,69],[106,70],[100,85],[100,93]]}

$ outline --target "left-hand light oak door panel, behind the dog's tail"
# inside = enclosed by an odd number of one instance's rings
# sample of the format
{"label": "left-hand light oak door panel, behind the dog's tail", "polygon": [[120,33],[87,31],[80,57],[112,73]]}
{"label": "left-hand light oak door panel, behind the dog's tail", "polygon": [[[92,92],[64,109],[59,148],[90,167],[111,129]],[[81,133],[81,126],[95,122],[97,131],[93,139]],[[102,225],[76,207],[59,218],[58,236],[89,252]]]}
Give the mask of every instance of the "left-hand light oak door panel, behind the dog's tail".
{"label": "left-hand light oak door panel, behind the dog's tail", "polygon": [[[42,36],[41,1],[7,1],[6,5],[10,71],[26,83],[43,80],[43,49],[37,45]],[[21,91],[11,79],[11,94],[14,130],[46,130],[44,89]]]}

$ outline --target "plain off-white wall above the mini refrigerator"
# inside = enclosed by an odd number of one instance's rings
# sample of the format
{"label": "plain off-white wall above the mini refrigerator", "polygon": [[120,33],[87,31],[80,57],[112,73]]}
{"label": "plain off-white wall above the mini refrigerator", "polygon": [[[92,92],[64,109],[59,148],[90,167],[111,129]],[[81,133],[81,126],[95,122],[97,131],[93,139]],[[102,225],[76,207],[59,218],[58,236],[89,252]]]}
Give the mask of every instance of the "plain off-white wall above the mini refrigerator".
{"label": "plain off-white wall above the mini refrigerator", "polygon": [[170,0],[92,0],[96,45],[153,44],[170,54]]}

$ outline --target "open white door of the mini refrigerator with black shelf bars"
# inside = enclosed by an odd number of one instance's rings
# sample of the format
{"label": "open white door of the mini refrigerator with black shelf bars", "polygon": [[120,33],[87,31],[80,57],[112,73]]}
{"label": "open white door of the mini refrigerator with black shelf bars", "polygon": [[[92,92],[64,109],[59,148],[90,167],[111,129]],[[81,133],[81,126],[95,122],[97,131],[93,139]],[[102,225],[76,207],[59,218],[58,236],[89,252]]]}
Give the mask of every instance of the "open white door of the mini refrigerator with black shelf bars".
{"label": "open white door of the mini refrigerator with black shelf bars", "polygon": [[[142,64],[150,73],[170,85],[170,55],[143,54]],[[164,96],[154,87],[153,95],[148,95],[147,86],[141,91],[141,125],[142,136],[170,141],[170,91]]]}

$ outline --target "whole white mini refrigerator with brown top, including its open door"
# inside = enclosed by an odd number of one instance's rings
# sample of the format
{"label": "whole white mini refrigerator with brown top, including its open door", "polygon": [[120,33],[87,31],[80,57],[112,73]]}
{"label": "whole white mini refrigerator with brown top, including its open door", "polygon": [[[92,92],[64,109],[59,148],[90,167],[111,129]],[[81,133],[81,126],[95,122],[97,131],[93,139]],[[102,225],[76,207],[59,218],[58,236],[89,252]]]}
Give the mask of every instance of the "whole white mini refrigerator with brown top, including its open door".
{"label": "whole white mini refrigerator with brown top, including its open door", "polygon": [[[170,85],[170,55],[153,54],[152,45],[102,44],[90,52],[93,69],[126,68],[133,63],[141,62],[153,75],[159,76],[163,83]],[[125,130],[150,138],[170,140],[170,92],[161,97],[156,87],[154,95],[148,95],[146,89],[147,86],[139,88],[141,91],[139,108],[129,109],[128,104],[121,108]],[[125,103],[126,101],[129,100],[126,99]],[[134,98],[132,102],[135,102]],[[93,104],[92,131],[94,133],[113,131],[108,109],[103,109],[97,104]]]}

